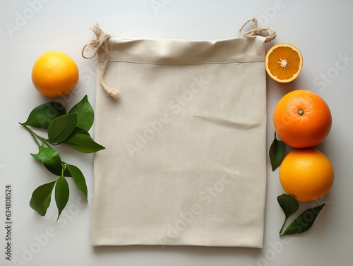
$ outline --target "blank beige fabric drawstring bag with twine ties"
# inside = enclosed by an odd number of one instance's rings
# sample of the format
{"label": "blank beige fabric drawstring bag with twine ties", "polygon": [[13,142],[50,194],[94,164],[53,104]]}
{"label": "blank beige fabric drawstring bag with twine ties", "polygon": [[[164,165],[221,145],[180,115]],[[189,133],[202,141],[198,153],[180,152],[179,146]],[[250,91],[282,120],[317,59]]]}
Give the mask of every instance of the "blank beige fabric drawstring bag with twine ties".
{"label": "blank beige fabric drawstring bag with twine ties", "polygon": [[217,41],[94,29],[85,49],[98,52],[95,140],[107,149],[95,155],[92,246],[262,247],[264,44],[275,31],[249,21]]}

